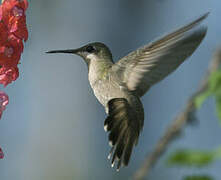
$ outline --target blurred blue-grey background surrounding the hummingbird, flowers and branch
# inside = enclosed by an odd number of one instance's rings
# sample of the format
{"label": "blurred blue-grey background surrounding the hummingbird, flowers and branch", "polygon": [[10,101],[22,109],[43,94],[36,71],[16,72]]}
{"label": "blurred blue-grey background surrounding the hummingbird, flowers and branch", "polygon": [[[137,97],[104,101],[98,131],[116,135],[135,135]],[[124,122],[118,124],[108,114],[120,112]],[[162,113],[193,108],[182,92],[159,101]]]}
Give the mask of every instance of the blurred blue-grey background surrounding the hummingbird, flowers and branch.
{"label": "blurred blue-grey background surrounding the hummingbird, flowers and branch", "polygon": [[[171,120],[197,89],[210,58],[221,45],[220,0],[30,0],[29,40],[19,79],[5,91],[10,104],[0,121],[1,180],[129,179]],[[145,45],[210,11],[208,34],[176,72],[155,85],[143,98],[145,125],[128,168],[116,173],[107,160],[103,130],[106,117],[95,99],[80,57],[47,55],[53,49],[77,48],[101,41],[114,59]],[[3,89],[1,87],[1,89]],[[220,162],[206,169],[168,168],[174,149],[210,150],[221,142],[214,100],[197,113],[199,124],[170,146],[150,173],[152,180],[176,180],[204,173],[221,179]]]}

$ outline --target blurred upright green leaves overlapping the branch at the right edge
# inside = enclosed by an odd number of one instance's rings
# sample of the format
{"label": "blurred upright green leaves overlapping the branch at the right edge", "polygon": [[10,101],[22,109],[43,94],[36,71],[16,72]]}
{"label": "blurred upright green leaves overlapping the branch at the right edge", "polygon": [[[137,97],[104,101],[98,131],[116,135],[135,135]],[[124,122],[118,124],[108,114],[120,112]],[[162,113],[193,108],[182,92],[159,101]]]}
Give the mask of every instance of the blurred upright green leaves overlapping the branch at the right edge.
{"label": "blurred upright green leaves overlapping the branch at the right edge", "polygon": [[195,98],[196,107],[200,108],[209,96],[215,97],[217,116],[221,121],[221,70],[210,75],[207,90]]}

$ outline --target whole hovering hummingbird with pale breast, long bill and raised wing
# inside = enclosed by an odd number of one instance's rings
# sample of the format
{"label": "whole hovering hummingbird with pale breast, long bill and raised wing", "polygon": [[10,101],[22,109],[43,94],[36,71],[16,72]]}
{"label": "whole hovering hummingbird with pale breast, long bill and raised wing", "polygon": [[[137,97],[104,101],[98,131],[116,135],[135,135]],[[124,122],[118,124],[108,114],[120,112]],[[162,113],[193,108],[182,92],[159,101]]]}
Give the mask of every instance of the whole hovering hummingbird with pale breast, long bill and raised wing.
{"label": "whole hovering hummingbird with pale breast, long bill and raised wing", "polygon": [[206,35],[200,25],[206,13],[193,22],[129,53],[116,63],[110,49],[101,42],[77,49],[47,53],[70,53],[84,59],[94,95],[104,106],[111,146],[108,159],[119,170],[127,166],[144,125],[144,108],[140,98],[157,82],[190,57]]}

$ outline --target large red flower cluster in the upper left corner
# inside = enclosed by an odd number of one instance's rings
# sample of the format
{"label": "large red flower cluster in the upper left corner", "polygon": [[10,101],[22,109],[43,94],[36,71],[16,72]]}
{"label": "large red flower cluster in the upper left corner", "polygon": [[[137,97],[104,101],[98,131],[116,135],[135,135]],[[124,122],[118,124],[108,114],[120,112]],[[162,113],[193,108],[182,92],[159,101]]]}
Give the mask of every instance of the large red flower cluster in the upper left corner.
{"label": "large red flower cluster in the upper left corner", "polygon": [[7,86],[18,76],[23,40],[28,39],[27,0],[4,0],[0,5],[0,84]]}

